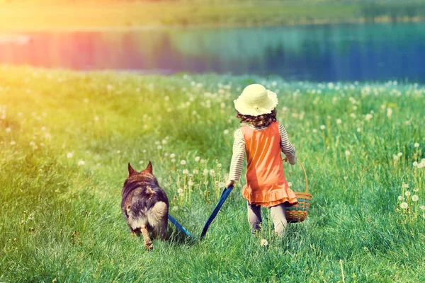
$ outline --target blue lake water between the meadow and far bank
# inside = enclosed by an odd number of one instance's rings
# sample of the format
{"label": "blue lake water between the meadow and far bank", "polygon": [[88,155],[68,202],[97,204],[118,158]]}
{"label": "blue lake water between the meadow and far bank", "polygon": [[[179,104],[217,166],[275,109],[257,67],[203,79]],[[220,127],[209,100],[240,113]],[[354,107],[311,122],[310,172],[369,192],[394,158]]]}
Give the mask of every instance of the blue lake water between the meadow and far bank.
{"label": "blue lake water between the meadow and far bank", "polygon": [[38,32],[0,35],[0,63],[425,82],[425,23]]}

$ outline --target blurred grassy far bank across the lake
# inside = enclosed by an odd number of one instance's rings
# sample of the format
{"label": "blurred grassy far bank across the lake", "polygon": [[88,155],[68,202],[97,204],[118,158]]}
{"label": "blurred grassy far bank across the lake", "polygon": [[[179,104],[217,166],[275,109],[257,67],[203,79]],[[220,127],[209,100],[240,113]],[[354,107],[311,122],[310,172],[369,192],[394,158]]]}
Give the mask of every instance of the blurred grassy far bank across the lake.
{"label": "blurred grassy far bank across the lake", "polygon": [[420,1],[1,1],[0,31],[423,21]]}

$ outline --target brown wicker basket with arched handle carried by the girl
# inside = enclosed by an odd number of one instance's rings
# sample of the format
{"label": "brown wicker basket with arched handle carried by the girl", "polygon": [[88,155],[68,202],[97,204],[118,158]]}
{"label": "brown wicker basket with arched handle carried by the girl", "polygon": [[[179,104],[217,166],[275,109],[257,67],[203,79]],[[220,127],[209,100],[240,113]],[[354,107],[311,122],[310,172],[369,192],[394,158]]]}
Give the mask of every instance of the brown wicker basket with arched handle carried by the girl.
{"label": "brown wicker basket with arched handle carried by the girl", "polygon": [[310,209],[310,200],[312,198],[312,195],[308,193],[307,173],[302,163],[300,161],[298,161],[298,163],[300,163],[305,175],[305,192],[295,192],[298,203],[293,207],[285,207],[286,220],[292,223],[304,221]]}

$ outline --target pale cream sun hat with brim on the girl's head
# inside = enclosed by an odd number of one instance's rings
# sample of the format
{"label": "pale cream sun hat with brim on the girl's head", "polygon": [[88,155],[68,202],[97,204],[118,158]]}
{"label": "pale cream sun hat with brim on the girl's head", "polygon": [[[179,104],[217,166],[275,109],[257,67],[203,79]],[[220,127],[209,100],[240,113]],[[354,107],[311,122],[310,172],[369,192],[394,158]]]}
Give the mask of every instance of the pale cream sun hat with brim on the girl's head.
{"label": "pale cream sun hat with brim on the girl's head", "polygon": [[244,88],[242,94],[234,100],[234,108],[243,114],[259,116],[270,114],[271,110],[278,105],[278,96],[273,91],[261,86],[261,84],[250,84]]}

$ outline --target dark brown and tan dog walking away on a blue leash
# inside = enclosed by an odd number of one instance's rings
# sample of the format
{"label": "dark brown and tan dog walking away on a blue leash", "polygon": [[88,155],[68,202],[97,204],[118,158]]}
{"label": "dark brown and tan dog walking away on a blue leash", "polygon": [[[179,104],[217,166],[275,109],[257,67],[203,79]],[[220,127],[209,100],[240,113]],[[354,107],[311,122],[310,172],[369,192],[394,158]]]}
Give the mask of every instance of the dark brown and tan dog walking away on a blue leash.
{"label": "dark brown and tan dog walking away on a blue leash", "polygon": [[132,235],[142,233],[146,248],[153,248],[149,232],[156,238],[166,236],[169,201],[152,174],[152,163],[144,171],[135,171],[128,163],[128,178],[123,186],[121,209]]}

